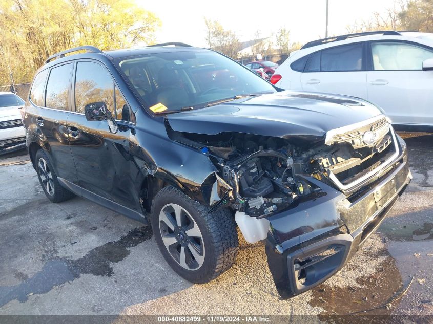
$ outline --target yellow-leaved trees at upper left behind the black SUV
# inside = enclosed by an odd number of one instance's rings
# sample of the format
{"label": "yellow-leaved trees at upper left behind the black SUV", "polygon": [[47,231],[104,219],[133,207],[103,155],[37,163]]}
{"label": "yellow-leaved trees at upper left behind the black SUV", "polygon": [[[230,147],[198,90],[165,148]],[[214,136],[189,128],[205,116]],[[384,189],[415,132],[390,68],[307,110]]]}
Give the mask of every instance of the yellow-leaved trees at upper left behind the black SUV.
{"label": "yellow-leaved trees at upper left behind the black SUV", "polygon": [[0,84],[31,81],[45,59],[81,45],[152,44],[159,19],[132,0],[0,0]]}

